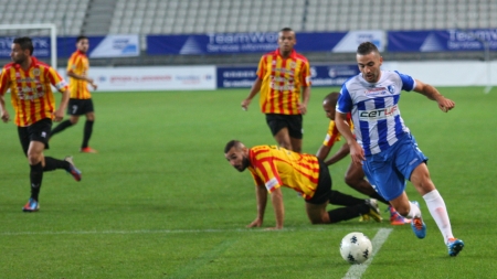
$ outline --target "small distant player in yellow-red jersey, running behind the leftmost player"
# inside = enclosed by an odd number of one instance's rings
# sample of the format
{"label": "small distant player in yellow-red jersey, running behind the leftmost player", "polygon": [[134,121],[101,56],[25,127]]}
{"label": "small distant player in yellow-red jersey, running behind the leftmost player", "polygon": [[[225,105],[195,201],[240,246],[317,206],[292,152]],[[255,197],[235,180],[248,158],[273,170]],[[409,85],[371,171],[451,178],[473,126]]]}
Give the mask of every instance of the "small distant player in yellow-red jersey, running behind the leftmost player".
{"label": "small distant player in yellow-red jersey, running behind the leftmost player", "polygon": [[89,138],[93,133],[95,122],[95,109],[93,107],[92,94],[88,90],[88,84],[96,90],[97,85],[93,78],[88,77],[89,62],[86,53],[88,52],[88,37],[82,35],[76,39],[76,51],[71,55],[67,63],[67,75],[70,76],[71,98],[67,107],[70,119],[55,127],[51,136],[59,133],[66,128],[74,126],[80,120],[80,116],[85,115],[86,122],[83,130],[83,142],[81,152],[96,153],[96,150],[88,147]]}

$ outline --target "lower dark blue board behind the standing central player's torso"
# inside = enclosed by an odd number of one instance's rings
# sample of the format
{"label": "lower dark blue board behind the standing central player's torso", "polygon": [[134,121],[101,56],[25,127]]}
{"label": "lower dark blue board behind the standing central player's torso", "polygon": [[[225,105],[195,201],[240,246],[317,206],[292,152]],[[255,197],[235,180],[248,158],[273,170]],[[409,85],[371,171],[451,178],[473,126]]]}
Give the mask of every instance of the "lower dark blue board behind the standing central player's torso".
{"label": "lower dark blue board behind the standing central player's torso", "polygon": [[[257,67],[218,67],[218,88],[251,88]],[[359,74],[357,65],[310,66],[313,87],[341,86],[349,77]]]}

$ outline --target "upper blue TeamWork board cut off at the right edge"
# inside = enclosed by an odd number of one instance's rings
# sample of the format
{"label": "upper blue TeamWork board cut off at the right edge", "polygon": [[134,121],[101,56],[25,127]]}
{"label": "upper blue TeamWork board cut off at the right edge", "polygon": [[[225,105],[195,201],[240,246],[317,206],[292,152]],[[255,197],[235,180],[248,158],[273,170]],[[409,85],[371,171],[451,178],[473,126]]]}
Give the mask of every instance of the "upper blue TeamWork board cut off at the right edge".
{"label": "upper blue TeamWork board cut off at the right edge", "polygon": [[497,50],[497,29],[388,32],[390,52],[483,51],[484,42]]}

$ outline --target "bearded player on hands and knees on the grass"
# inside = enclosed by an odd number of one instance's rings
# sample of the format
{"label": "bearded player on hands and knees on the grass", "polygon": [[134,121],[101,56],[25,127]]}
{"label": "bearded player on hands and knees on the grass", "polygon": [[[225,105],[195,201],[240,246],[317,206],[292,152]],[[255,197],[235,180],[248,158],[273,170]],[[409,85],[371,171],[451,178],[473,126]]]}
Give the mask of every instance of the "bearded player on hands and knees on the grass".
{"label": "bearded player on hands and knees on the grass", "polygon": [[[248,149],[242,142],[231,140],[224,148],[224,157],[240,172],[248,169],[255,181],[257,217],[247,227],[262,226],[269,193],[276,216],[276,226],[272,229],[283,228],[285,211],[282,186],[290,187],[304,197],[311,224],[331,224],[363,214],[381,222],[374,198],[361,200],[332,191],[328,168],[313,154],[296,153],[276,146]],[[329,203],[347,207],[327,212]]]}

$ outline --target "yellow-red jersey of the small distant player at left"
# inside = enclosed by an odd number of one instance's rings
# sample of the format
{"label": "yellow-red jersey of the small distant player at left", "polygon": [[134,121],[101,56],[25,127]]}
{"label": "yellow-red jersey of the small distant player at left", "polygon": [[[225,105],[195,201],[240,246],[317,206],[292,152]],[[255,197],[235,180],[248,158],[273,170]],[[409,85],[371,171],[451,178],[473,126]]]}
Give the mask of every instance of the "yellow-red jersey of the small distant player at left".
{"label": "yellow-red jersey of the small distant player at left", "polygon": [[[68,62],[67,72],[73,72],[76,75],[84,75],[88,73],[89,62],[84,52],[75,51]],[[70,76],[70,92],[73,99],[89,99],[92,94],[88,90],[88,82],[77,79]]]}

